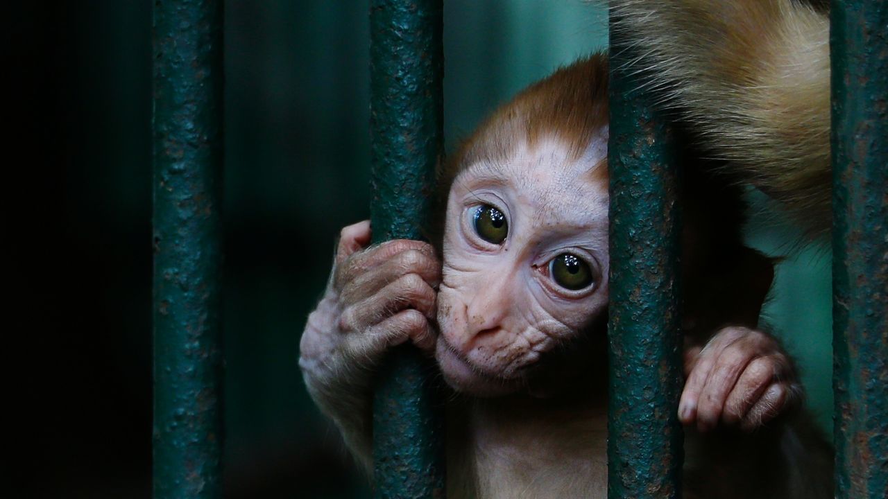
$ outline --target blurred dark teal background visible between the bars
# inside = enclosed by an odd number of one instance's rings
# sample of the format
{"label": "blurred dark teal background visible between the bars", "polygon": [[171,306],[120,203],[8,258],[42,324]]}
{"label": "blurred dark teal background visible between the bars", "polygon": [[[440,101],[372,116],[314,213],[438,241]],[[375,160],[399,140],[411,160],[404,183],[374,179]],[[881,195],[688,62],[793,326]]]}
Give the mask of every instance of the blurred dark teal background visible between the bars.
{"label": "blurred dark teal background visible between the bars", "polygon": [[[4,6],[4,497],[149,497],[151,2]],[[367,497],[308,399],[299,335],[341,226],[369,217],[366,0],[226,2],[226,495]],[[607,44],[580,0],[445,2],[448,148]],[[19,159],[14,159],[19,158]],[[757,217],[749,241],[794,249]],[[793,252],[765,315],[831,424],[828,249]]]}

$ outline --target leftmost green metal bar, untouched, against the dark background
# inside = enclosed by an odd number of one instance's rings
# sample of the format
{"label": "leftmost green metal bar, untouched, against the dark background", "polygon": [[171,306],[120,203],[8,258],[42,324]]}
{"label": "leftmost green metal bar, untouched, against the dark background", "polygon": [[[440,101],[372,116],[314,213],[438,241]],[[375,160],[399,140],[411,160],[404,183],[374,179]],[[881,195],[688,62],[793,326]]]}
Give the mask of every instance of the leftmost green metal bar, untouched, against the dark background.
{"label": "leftmost green metal bar, untouched, against the dark background", "polygon": [[154,497],[221,496],[222,2],[154,7]]}

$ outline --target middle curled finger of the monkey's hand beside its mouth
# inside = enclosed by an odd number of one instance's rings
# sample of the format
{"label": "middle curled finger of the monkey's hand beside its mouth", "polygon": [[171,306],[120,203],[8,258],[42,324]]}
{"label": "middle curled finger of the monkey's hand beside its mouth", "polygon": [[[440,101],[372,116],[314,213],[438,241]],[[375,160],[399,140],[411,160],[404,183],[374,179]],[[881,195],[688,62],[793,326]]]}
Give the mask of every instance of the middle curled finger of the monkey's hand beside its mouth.
{"label": "middle curled finger of the monkey's hand beside its mouth", "polygon": [[434,289],[422,277],[416,273],[408,273],[387,284],[376,294],[346,306],[339,316],[339,329],[343,332],[363,332],[408,308],[416,309],[431,319],[437,313],[436,299]]}

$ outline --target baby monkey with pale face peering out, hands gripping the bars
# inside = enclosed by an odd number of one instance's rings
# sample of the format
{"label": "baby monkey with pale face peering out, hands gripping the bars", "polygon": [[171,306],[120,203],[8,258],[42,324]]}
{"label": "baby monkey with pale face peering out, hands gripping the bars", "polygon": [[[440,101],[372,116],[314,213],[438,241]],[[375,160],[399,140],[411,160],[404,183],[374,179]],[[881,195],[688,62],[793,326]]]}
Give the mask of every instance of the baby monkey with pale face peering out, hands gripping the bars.
{"label": "baby monkey with pale face peering out, hands gripping the bars", "polygon": [[[440,251],[370,246],[367,221],[342,230],[299,362],[365,466],[373,372],[412,342],[459,394],[446,409],[448,497],[607,495],[607,119],[595,55],[522,91],[456,151],[440,172]],[[695,161],[685,496],[829,497],[829,447],[795,410],[788,355],[757,329],[772,263],[740,242],[736,187]]]}

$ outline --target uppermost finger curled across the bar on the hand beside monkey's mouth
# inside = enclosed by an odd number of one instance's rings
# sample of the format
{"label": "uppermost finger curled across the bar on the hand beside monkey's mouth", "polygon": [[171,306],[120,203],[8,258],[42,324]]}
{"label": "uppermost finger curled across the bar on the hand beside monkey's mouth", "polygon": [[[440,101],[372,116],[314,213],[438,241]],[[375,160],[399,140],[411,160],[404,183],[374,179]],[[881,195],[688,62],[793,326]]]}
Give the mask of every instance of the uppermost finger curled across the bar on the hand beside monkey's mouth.
{"label": "uppermost finger curled across the bar on the hand beside monkey's mouth", "polygon": [[408,273],[416,273],[434,288],[440,282],[440,261],[434,255],[429,255],[424,251],[416,249],[402,251],[386,260],[382,265],[377,265],[359,274],[353,281],[343,283],[340,293],[341,303],[347,306],[364,297],[369,297],[390,282]]}

